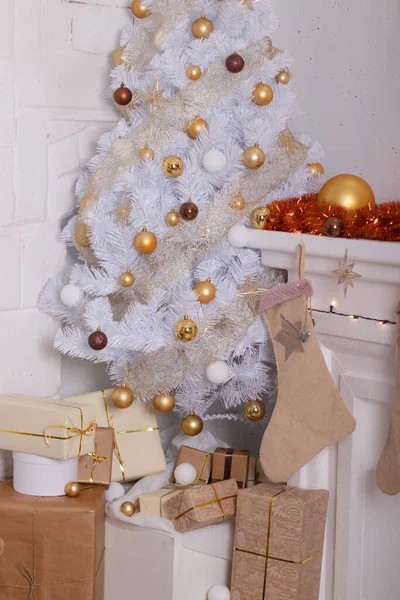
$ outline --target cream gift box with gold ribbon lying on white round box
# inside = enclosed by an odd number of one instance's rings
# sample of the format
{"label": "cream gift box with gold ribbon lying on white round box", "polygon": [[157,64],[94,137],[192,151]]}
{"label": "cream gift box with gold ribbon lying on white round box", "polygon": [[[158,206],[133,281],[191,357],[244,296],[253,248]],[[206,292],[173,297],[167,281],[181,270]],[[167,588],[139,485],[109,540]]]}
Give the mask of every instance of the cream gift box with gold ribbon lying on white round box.
{"label": "cream gift box with gold ribbon lying on white round box", "polygon": [[94,450],[95,409],[34,396],[0,396],[0,448],[67,460]]}

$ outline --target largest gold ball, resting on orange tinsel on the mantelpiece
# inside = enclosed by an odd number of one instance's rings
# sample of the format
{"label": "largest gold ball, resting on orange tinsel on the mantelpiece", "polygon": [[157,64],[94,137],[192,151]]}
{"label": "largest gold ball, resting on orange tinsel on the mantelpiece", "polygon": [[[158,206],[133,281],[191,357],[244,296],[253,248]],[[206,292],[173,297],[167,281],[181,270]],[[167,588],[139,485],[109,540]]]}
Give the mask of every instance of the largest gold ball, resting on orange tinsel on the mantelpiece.
{"label": "largest gold ball, resting on orange tinsel on the mantelpiece", "polygon": [[364,206],[375,206],[375,195],[371,186],[356,175],[336,175],[322,186],[318,204],[334,204],[347,210]]}

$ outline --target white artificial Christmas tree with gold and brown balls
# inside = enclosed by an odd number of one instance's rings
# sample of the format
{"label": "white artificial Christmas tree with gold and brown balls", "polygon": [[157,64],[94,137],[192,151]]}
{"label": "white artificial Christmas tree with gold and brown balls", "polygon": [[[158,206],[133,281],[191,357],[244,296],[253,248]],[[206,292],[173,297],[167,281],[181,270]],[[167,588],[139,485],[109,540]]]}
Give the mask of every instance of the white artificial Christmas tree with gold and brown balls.
{"label": "white artificial Christmas tree with gold and brown balls", "polygon": [[291,60],[271,42],[269,0],[134,0],[132,12],[112,71],[122,118],[64,230],[78,258],[40,304],[62,321],[55,347],[104,363],[135,401],[173,394],[182,416],[243,419],[237,407],[269,388],[263,268],[243,226],[316,191],[322,152],[288,129]]}

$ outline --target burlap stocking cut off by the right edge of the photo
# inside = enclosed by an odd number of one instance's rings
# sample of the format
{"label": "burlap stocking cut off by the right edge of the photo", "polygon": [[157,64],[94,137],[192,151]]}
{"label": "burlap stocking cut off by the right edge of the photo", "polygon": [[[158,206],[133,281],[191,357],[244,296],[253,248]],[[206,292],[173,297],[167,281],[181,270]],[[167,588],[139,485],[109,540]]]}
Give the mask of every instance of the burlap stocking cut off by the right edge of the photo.
{"label": "burlap stocking cut off by the right edge of the photo", "polygon": [[376,482],[384,494],[400,492],[400,304],[397,308],[396,389],[386,445],[376,469]]}

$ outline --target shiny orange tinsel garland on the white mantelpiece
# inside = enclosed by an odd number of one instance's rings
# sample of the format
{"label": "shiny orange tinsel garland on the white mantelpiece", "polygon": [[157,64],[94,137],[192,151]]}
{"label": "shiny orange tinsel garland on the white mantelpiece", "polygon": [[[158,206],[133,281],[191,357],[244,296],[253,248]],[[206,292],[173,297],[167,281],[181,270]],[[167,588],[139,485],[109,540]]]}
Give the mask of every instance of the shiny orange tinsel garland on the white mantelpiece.
{"label": "shiny orange tinsel garland on the white mantelpiece", "polygon": [[326,235],[325,221],[337,217],[343,222],[344,238],[400,241],[400,202],[385,202],[374,208],[350,211],[333,204],[319,205],[318,194],[268,204],[269,215],[264,229],[289,233]]}

